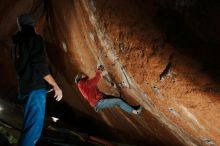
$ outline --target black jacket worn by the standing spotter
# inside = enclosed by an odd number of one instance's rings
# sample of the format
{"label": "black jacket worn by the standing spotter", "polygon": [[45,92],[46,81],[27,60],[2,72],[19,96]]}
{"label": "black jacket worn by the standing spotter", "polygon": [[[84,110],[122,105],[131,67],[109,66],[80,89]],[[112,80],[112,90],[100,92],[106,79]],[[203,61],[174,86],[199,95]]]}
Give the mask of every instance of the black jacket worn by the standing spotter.
{"label": "black jacket worn by the standing spotter", "polygon": [[23,26],[13,37],[11,55],[18,78],[20,94],[47,88],[43,79],[49,74],[43,39],[31,26]]}

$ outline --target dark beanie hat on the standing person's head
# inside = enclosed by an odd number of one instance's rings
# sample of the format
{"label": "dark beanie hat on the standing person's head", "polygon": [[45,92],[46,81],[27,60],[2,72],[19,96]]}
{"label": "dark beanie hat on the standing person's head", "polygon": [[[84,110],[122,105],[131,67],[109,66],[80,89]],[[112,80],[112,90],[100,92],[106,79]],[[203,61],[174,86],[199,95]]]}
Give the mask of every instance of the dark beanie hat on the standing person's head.
{"label": "dark beanie hat on the standing person's head", "polygon": [[35,26],[35,21],[31,18],[28,14],[23,14],[21,16],[18,16],[18,23],[20,26],[28,25],[28,26]]}

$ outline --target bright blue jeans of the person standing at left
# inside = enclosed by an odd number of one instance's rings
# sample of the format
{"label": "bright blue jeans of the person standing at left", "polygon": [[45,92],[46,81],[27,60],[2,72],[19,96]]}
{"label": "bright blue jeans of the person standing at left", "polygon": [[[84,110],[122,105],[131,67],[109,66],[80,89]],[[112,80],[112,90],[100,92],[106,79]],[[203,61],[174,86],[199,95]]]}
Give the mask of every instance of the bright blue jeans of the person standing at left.
{"label": "bright blue jeans of the person standing at left", "polygon": [[46,105],[46,90],[30,92],[25,98],[23,132],[19,146],[35,146],[41,136]]}

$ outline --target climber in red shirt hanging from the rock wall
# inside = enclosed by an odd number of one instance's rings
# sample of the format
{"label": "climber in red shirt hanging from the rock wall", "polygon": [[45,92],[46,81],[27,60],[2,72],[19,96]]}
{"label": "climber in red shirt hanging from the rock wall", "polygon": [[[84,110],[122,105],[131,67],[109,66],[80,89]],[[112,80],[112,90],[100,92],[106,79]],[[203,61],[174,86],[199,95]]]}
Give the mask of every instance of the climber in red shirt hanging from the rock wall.
{"label": "climber in red shirt hanging from the rock wall", "polygon": [[94,107],[96,112],[104,108],[118,106],[127,113],[139,115],[142,111],[142,106],[139,105],[136,106],[137,108],[134,108],[134,106],[130,106],[120,97],[107,95],[98,89],[97,83],[101,79],[103,71],[104,67],[102,65],[99,65],[97,67],[95,76],[91,79],[89,79],[88,76],[83,73],[79,73],[76,75],[75,83],[77,84],[77,87],[83,97],[89,102],[92,107]]}

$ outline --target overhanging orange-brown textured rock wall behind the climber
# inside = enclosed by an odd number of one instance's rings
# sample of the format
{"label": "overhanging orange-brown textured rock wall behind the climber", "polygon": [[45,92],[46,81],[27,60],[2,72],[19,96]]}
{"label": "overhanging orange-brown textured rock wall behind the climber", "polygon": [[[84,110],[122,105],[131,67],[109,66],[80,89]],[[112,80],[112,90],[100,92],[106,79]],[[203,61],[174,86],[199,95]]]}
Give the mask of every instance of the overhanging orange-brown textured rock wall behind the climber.
{"label": "overhanging orange-brown textured rock wall behind the climber", "polygon": [[[64,100],[73,109],[107,124],[127,143],[220,145],[217,1],[209,5],[196,0],[24,3],[11,0],[1,9],[1,46],[8,48],[16,15],[33,12]],[[7,54],[5,49],[1,52]],[[14,88],[9,58],[2,58],[1,75],[11,84],[1,80],[1,86]],[[114,88],[103,79],[99,87],[109,94],[122,93],[131,104],[143,105],[141,117],[118,108],[95,113],[81,97],[74,76],[80,71],[93,76],[97,63],[105,66],[117,85]]]}

